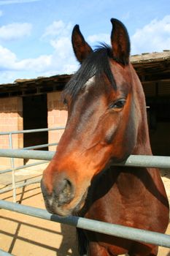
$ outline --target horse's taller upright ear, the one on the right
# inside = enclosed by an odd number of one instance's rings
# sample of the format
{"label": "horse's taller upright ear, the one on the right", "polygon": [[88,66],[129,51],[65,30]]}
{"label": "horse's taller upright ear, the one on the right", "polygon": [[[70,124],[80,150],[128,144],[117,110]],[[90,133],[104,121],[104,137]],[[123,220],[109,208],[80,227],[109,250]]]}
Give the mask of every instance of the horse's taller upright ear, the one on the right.
{"label": "horse's taller upright ear, the one on the right", "polygon": [[112,32],[111,43],[113,56],[123,65],[128,64],[130,56],[130,39],[128,37],[128,31],[120,22],[120,20],[111,19]]}

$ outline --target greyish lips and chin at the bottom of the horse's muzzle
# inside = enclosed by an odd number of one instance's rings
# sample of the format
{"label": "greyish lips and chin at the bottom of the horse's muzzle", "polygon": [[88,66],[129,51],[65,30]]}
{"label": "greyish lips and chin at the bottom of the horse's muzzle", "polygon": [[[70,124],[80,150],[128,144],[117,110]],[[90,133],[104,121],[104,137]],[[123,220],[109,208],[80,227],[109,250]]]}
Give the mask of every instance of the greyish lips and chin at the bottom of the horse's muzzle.
{"label": "greyish lips and chin at the bottom of the horse's muzzle", "polygon": [[80,197],[79,200],[72,200],[71,202],[64,204],[59,203],[58,198],[54,195],[45,195],[43,191],[42,194],[45,200],[45,207],[50,214],[58,214],[66,217],[70,215],[77,215],[78,212],[83,208],[85,205],[85,199],[88,195],[88,189],[86,189],[85,193],[82,195],[82,197]]}

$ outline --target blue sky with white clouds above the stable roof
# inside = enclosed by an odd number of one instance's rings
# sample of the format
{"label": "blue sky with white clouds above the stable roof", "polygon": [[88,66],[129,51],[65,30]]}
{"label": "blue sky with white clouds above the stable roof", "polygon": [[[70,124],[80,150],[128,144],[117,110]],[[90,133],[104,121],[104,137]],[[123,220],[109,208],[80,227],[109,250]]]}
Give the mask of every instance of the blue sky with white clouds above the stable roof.
{"label": "blue sky with white clouds above the stable roof", "polygon": [[109,43],[110,18],[121,20],[131,54],[170,50],[169,0],[0,0],[0,84],[70,74],[75,24],[88,43]]}

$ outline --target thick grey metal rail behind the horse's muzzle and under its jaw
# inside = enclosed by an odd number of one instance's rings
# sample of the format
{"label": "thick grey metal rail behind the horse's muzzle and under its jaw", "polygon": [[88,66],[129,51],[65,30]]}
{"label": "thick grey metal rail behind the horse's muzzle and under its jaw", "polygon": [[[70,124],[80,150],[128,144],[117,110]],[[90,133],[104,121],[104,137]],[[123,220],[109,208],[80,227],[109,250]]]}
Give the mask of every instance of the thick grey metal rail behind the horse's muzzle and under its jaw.
{"label": "thick grey metal rail behind the horse's muzzle and under its jaw", "polygon": [[[0,157],[51,160],[55,151],[31,151],[22,149],[0,149]],[[124,162],[114,165],[132,167],[170,168],[170,157],[131,155]]]}

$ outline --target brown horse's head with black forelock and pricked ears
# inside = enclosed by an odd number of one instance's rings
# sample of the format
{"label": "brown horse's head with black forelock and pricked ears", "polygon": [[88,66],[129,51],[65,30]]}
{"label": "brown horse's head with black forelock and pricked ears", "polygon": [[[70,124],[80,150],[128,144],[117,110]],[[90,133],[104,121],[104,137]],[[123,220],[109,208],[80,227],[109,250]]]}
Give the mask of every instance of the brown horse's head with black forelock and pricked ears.
{"label": "brown horse's head with black forelock and pricked ears", "polygon": [[112,162],[150,153],[144,93],[129,61],[128,32],[119,20],[111,22],[112,47],[92,50],[78,25],[72,31],[81,66],[63,91],[66,129],[42,177],[47,210],[62,216],[80,211],[93,178]]}

